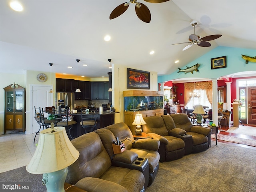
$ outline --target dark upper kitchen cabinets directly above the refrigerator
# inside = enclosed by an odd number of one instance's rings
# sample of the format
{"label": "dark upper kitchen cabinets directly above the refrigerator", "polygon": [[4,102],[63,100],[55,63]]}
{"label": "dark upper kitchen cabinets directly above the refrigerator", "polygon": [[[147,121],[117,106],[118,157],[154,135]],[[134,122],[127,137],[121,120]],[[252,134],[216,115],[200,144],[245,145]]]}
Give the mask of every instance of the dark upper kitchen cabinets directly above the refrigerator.
{"label": "dark upper kitchen cabinets directly above the refrigerator", "polygon": [[75,92],[74,88],[77,88],[77,81],[73,79],[60,79],[56,78],[56,92]]}

